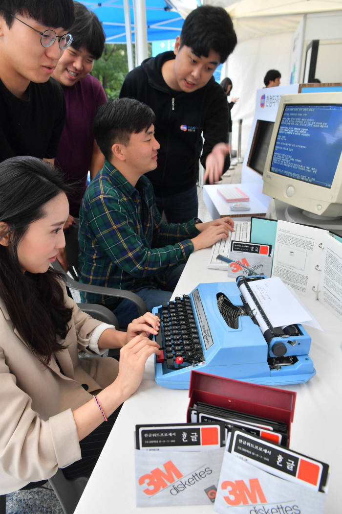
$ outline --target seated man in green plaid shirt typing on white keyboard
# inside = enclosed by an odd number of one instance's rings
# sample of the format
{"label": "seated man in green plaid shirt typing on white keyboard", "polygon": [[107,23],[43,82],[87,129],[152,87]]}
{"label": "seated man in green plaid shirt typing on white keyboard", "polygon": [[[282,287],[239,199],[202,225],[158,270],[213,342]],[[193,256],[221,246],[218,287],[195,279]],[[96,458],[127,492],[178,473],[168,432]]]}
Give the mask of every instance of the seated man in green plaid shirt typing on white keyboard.
{"label": "seated man in green plaid shirt typing on white keyboard", "polygon": [[[154,119],[150,107],[128,98],[99,108],[94,136],[106,160],[79,212],[81,281],[134,291],[149,310],[169,301],[191,252],[227,237],[234,226],[229,217],[183,224],[162,218],[144,176],[157,166]],[[82,297],[99,302],[98,295]],[[103,296],[100,301],[114,311],[120,326],[137,315],[129,300]]]}

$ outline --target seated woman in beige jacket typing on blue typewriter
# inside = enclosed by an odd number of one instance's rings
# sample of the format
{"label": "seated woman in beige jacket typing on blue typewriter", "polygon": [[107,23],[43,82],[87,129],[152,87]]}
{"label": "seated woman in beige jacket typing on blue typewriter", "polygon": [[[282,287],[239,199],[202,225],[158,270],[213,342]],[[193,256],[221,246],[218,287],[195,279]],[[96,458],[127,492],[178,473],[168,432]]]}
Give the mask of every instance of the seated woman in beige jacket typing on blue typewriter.
{"label": "seated woman in beige jacket typing on blue typewriter", "polygon": [[[117,332],[66,295],[51,267],[65,245],[66,190],[42,160],[0,164],[0,494],[80,459],[84,474],[83,440],[96,430],[108,434],[97,427],[113,424],[110,416],[138,388],[147,358],[159,354],[147,337],[159,328],[151,313]],[[94,357],[78,359],[77,348]],[[120,362],[100,358],[104,348],[122,348]],[[95,461],[93,455],[86,472]]]}

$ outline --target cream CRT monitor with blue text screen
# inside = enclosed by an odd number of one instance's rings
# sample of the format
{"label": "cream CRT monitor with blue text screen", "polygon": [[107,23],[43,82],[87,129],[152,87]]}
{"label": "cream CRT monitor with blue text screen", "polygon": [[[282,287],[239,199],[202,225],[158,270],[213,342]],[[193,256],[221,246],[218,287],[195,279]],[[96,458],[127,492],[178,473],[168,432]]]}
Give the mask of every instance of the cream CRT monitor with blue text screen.
{"label": "cream CRT monitor with blue text screen", "polygon": [[285,214],[288,221],[310,223],[304,215],[319,225],[319,219],[342,216],[341,152],[342,93],[284,95],[266,157],[263,193],[292,207]]}

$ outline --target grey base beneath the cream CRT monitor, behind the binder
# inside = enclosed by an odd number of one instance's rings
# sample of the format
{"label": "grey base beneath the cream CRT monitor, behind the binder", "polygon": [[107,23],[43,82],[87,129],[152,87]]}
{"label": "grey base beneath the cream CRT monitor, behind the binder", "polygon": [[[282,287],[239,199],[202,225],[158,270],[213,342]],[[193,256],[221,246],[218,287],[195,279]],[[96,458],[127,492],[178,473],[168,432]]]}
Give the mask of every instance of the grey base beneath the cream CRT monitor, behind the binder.
{"label": "grey base beneath the cream CRT monitor, behind the binder", "polygon": [[[271,208],[272,204],[272,208]],[[329,216],[317,216],[308,211],[303,211],[298,207],[286,204],[284,201],[271,200],[270,209],[266,217],[272,219],[283,219],[291,223],[300,223],[301,225],[311,225],[326,230],[336,232],[342,235],[342,217],[331,218]]]}

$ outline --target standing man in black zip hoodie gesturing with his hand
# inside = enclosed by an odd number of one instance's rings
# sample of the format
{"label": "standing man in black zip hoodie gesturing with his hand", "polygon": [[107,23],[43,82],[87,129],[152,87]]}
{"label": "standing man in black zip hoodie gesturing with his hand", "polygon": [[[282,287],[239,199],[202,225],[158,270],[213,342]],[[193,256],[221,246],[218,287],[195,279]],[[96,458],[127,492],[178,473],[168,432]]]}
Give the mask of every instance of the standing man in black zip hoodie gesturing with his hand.
{"label": "standing man in black zip hoodie gesturing with his hand", "polygon": [[156,115],[158,166],[147,176],[169,223],[197,217],[199,157],[210,183],[229,167],[227,98],[212,75],[235,45],[225,9],[198,7],[187,16],[174,52],[146,59],[126,76],[120,91],[120,98],[144,102]]}

